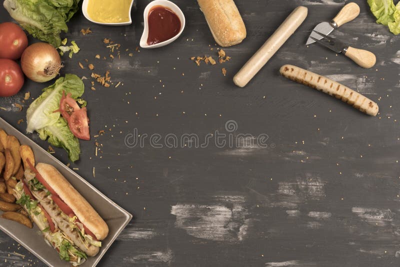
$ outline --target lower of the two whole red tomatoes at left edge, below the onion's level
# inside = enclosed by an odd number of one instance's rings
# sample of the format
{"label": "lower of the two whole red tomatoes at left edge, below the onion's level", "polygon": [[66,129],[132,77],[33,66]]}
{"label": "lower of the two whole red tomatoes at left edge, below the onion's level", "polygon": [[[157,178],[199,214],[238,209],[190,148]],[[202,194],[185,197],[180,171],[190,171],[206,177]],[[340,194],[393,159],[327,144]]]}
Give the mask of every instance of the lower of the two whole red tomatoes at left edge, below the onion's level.
{"label": "lower of the two whole red tomatoes at left edge, below the onion's level", "polygon": [[22,85],[21,67],[11,59],[0,58],[0,96],[14,95]]}

